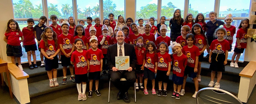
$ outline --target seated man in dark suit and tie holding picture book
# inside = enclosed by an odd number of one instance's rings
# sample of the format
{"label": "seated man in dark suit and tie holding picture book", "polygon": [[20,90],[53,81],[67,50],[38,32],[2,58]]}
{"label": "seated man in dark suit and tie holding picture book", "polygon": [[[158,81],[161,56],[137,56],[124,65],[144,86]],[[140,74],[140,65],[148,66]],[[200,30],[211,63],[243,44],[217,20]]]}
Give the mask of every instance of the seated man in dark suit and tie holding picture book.
{"label": "seated man in dark suit and tie holding picture book", "polygon": [[[136,54],[133,45],[124,43],[125,35],[122,30],[116,33],[117,44],[111,45],[107,49],[107,64],[110,68],[109,75],[111,81],[119,89],[117,94],[117,100],[123,98],[126,103],[130,102],[127,96],[128,89],[135,83],[135,64],[136,64]],[[115,67],[115,56],[130,56],[130,67],[126,70],[118,70]],[[121,78],[125,78],[127,81],[124,83],[120,82]]]}

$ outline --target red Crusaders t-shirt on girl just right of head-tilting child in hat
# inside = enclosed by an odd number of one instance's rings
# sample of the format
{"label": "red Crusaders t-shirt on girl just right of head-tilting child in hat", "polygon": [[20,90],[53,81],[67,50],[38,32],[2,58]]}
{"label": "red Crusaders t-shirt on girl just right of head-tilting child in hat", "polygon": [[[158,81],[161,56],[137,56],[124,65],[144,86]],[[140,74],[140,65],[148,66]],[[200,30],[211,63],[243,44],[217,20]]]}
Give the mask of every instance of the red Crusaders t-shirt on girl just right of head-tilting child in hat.
{"label": "red Crusaders t-shirt on girl just right of head-tilting child in hat", "polygon": [[185,54],[188,58],[187,65],[189,67],[195,67],[195,57],[200,55],[198,47],[193,45],[191,48],[188,46],[184,46],[182,49],[182,53]]}

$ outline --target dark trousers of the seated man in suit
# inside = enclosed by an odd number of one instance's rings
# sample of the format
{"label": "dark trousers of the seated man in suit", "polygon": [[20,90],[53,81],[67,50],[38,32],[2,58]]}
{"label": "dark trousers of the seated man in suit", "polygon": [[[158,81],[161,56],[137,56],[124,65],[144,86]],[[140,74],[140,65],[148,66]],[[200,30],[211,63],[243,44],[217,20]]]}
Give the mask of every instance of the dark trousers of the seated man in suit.
{"label": "dark trousers of the seated man in suit", "polygon": [[[120,71],[114,72],[112,70],[109,70],[109,75],[111,78],[112,83],[114,86],[119,89],[120,95],[123,95],[125,92],[128,91],[128,89],[135,83],[136,77],[135,77],[135,71],[123,71],[121,73]],[[121,78],[125,78],[127,81],[120,81]]]}

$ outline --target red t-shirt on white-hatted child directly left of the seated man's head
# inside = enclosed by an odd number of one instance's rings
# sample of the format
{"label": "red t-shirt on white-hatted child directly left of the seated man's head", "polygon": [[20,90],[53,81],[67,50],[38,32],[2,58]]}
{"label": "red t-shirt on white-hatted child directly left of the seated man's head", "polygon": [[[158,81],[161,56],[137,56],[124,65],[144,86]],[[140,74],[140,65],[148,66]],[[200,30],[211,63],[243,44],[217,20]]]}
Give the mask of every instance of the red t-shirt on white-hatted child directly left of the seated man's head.
{"label": "red t-shirt on white-hatted child directly left of the seated man's head", "polygon": [[[103,35],[98,37],[98,42],[103,39]],[[111,45],[111,37],[107,35],[107,37],[104,40],[104,43],[100,45],[100,50],[102,51],[103,54],[107,54],[107,49]]]}

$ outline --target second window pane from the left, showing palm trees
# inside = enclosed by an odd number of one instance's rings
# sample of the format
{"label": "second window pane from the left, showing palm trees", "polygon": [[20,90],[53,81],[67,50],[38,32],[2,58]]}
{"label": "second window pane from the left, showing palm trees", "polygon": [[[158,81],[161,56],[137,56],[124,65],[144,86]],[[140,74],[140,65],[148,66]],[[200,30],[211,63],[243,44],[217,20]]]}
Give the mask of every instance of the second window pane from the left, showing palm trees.
{"label": "second window pane from the left, showing palm trees", "polygon": [[47,0],[48,15],[57,15],[58,18],[73,16],[72,0]]}

